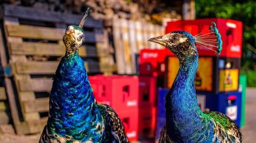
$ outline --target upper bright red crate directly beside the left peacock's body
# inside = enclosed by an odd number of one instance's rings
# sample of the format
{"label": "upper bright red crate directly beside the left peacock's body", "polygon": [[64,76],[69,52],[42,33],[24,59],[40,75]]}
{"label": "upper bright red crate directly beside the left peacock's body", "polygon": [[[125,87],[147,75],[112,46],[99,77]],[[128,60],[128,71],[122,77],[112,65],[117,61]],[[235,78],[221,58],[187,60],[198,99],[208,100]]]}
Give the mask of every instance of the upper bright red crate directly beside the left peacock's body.
{"label": "upper bright red crate directly beside the left peacock's body", "polygon": [[99,103],[116,111],[138,109],[139,79],[137,76],[89,76],[94,96]]}

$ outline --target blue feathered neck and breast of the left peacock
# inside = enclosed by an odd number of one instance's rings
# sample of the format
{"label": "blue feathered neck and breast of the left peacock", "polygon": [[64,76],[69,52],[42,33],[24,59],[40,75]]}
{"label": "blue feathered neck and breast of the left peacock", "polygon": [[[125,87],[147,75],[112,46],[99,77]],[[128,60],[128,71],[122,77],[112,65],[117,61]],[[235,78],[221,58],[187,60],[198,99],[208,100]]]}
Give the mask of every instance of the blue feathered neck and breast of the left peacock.
{"label": "blue feathered neck and breast of the left peacock", "polygon": [[48,132],[53,137],[100,141],[103,119],[78,52],[61,59],[50,94]]}

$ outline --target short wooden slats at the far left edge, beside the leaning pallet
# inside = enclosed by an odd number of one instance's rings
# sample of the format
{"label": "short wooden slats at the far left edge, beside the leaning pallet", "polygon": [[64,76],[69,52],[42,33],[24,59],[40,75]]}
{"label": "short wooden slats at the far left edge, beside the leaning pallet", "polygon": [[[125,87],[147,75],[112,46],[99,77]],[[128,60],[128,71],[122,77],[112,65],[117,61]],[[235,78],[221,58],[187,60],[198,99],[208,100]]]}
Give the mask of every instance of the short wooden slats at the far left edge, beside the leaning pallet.
{"label": "short wooden slats at the far left edge, beside the leaning pallet", "polygon": [[0,87],[0,133],[14,133],[11,112],[4,87]]}

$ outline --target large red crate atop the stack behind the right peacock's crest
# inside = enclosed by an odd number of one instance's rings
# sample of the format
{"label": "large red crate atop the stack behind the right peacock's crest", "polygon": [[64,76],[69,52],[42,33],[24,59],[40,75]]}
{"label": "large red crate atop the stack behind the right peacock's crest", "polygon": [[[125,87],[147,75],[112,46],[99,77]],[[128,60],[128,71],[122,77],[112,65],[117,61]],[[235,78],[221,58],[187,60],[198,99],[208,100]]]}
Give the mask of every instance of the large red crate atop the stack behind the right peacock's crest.
{"label": "large red crate atop the stack behind the right peacock's crest", "polygon": [[[166,33],[172,31],[187,31],[192,35],[207,29],[211,22],[217,24],[217,28],[221,34],[223,42],[223,50],[220,54],[222,57],[241,58],[242,55],[242,26],[243,23],[237,20],[221,19],[221,18],[205,18],[196,20],[179,20],[168,22]],[[199,55],[216,56],[214,51],[197,45]]]}

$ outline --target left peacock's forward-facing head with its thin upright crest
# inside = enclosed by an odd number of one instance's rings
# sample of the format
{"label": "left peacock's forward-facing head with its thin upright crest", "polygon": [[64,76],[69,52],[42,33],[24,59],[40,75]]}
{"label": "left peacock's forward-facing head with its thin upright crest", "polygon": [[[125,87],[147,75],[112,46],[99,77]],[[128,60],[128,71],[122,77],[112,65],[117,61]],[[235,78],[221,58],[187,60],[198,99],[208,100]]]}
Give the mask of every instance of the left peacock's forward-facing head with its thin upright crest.
{"label": "left peacock's forward-facing head with its thin upright crest", "polygon": [[71,55],[74,54],[82,45],[82,40],[84,38],[84,33],[82,30],[84,22],[87,20],[89,15],[89,8],[87,9],[86,13],[84,14],[81,22],[79,25],[70,25],[68,26],[65,35],[63,36],[63,43],[66,47],[66,54]]}

